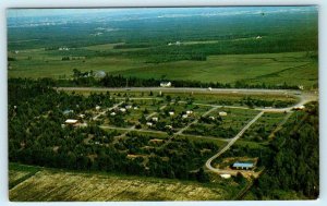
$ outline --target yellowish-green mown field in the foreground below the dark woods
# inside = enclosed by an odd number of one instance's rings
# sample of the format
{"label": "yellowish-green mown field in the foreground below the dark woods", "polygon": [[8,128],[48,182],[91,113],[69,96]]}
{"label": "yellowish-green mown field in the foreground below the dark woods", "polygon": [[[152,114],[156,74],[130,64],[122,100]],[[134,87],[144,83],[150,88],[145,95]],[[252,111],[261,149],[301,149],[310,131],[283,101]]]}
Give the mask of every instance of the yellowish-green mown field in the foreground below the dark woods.
{"label": "yellowish-green mown field in the foreground below the dark woods", "polygon": [[[21,168],[25,170],[25,167]],[[13,179],[15,177],[10,175],[10,180]],[[9,197],[14,202],[219,201],[235,192],[231,185],[228,190],[218,184],[41,169],[11,189]]]}

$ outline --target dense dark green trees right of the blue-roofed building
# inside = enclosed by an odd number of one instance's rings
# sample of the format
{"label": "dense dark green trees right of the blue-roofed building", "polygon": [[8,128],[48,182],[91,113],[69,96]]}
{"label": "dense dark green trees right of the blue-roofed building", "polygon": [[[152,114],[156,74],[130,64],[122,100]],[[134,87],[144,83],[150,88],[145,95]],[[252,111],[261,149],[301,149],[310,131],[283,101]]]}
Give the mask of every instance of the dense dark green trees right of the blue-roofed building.
{"label": "dense dark green trees right of the blue-roofed building", "polygon": [[[300,119],[286,125],[271,142],[271,161],[255,181],[258,198],[281,198],[278,191],[295,191],[307,198],[319,195],[318,106],[312,105]],[[284,198],[284,197],[283,197]]]}

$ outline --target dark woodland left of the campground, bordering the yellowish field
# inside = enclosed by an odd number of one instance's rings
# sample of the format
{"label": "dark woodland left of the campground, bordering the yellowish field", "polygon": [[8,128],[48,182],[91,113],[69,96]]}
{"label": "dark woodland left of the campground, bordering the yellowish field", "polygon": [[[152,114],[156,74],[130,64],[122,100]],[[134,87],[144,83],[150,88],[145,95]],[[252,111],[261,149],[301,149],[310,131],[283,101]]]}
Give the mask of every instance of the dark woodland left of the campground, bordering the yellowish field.
{"label": "dark woodland left of the campground, bordering the yellowish field", "polygon": [[[218,150],[214,144],[183,138],[153,144],[153,136],[101,130],[88,121],[85,128],[62,126],[70,116],[95,106],[113,105],[110,94],[87,97],[55,90],[51,82],[9,81],[10,161],[74,170],[100,170],[160,178],[208,181],[202,166]],[[63,110],[73,110],[64,114]],[[89,117],[92,119],[92,117]],[[202,153],[209,149],[209,152]],[[135,155],[131,158],[129,155]],[[148,158],[148,161],[145,161]]]}

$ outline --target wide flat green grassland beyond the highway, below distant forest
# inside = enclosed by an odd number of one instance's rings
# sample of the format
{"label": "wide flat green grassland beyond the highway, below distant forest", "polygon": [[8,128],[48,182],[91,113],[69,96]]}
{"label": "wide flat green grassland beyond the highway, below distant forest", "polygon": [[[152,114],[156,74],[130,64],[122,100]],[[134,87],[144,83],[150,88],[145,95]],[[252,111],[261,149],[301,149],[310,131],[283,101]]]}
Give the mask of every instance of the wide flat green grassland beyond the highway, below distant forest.
{"label": "wide flat green grassland beyond the highway, below distant forest", "polygon": [[[9,53],[16,61],[10,62],[9,77],[70,77],[73,69],[81,71],[106,71],[111,74],[141,78],[193,80],[202,82],[265,83],[311,87],[317,83],[317,62],[305,57],[305,52],[220,54],[209,56],[206,61],[173,61],[145,63],[141,58],[126,58],[113,49],[116,44],[95,45],[70,51],[75,60],[62,61],[66,51],[43,49],[22,50]],[[104,50],[113,56],[98,57]],[[88,57],[90,56],[90,57]],[[295,75],[296,74],[296,75]]]}

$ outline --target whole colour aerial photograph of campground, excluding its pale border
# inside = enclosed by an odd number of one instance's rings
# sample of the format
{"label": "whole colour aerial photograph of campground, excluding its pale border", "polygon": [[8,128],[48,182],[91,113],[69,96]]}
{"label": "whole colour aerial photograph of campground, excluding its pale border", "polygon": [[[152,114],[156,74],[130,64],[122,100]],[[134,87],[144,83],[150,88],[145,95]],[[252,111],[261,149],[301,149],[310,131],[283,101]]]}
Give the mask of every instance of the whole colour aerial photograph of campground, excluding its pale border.
{"label": "whole colour aerial photograph of campground, excluding its pale border", "polygon": [[318,7],[5,13],[11,202],[319,197]]}

